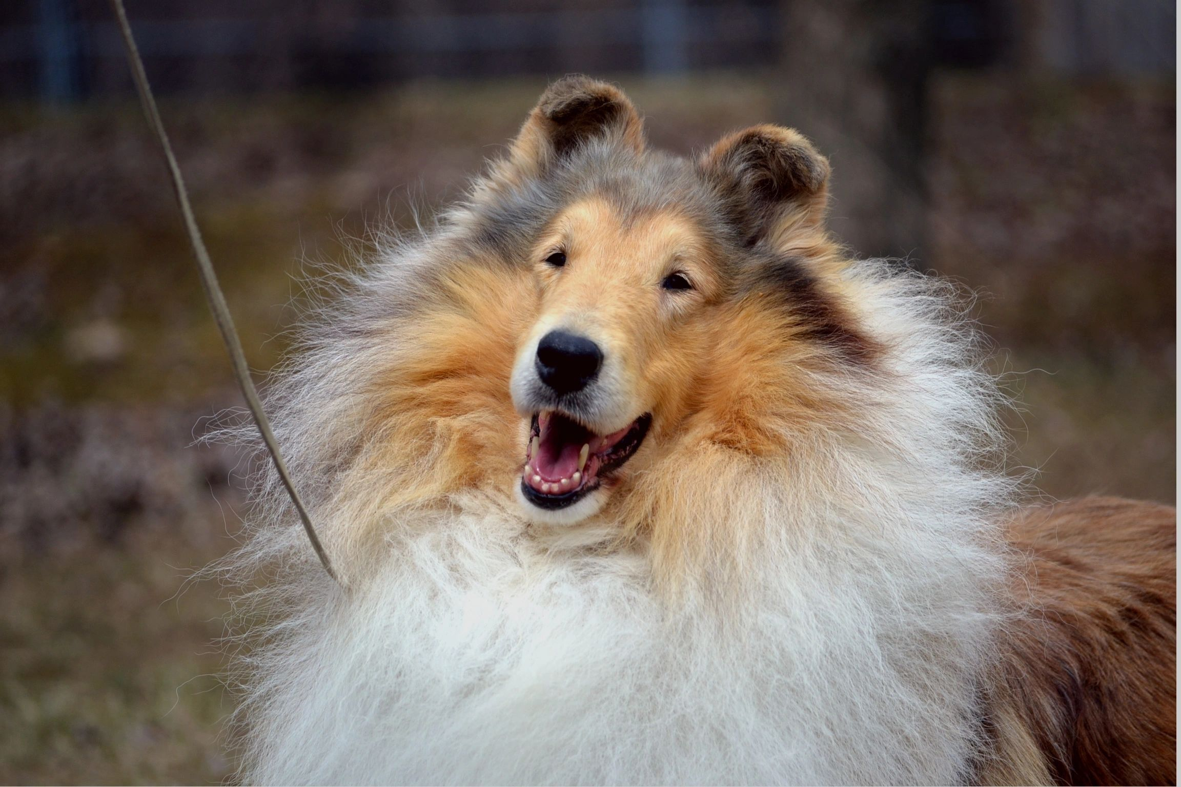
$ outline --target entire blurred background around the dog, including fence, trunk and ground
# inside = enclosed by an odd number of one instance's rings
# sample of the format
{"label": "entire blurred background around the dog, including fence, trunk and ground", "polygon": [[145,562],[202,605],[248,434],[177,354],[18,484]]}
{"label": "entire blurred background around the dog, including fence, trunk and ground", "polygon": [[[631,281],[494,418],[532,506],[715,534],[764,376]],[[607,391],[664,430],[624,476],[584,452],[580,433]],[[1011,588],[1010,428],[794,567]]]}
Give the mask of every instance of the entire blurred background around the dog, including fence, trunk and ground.
{"label": "entire blurred background around the dog, including fence, trunk and ground", "polygon": [[[1163,0],[129,0],[252,365],[308,263],[461,194],[548,80],[654,144],[761,122],[833,227],[979,294],[1048,496],[1175,499]],[[241,404],[102,0],[0,5],[0,782],[216,782]]]}

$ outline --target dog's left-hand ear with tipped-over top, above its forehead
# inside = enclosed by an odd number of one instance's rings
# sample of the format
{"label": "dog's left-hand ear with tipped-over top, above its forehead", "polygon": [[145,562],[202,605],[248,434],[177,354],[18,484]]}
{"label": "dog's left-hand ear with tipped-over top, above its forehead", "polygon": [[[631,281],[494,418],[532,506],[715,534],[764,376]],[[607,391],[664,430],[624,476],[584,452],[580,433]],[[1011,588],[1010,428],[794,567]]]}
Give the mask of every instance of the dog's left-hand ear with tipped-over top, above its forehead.
{"label": "dog's left-hand ear with tipped-over top, above its forehead", "polygon": [[527,176],[537,175],[595,138],[618,139],[640,152],[644,124],[614,85],[580,74],[559,79],[542,93],[514,140],[511,166]]}

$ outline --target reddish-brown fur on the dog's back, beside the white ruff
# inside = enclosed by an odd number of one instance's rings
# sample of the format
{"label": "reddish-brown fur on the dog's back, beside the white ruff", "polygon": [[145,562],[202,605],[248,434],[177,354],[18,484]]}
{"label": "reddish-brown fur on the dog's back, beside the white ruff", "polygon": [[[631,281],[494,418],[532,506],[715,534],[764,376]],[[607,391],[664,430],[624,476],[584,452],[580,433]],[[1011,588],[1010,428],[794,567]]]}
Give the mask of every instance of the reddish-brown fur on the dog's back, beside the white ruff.
{"label": "reddish-brown fur on the dog's back, beside the white ruff", "polygon": [[[1175,783],[1176,512],[1087,498],[1022,511],[1009,539],[1017,609],[987,691],[1020,732],[1001,722],[983,778]],[[1024,779],[998,773],[1014,747],[1036,753]]]}

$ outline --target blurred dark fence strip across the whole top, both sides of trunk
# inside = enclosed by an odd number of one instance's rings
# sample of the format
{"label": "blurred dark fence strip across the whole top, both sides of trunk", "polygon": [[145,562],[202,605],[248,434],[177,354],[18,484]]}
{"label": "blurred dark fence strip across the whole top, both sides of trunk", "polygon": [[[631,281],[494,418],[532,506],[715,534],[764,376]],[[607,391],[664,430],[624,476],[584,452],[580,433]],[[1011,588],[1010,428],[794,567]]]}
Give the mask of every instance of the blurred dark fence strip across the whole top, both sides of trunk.
{"label": "blurred dark fence strip across the whole top, both sides of trunk", "polygon": [[[919,19],[937,64],[1068,73],[1175,67],[1168,0],[138,0],[162,92],[350,88],[424,77],[768,67],[815,7]],[[130,91],[104,0],[0,4],[0,96]],[[820,67],[824,67],[820,65]],[[800,74],[807,78],[807,74]]]}

